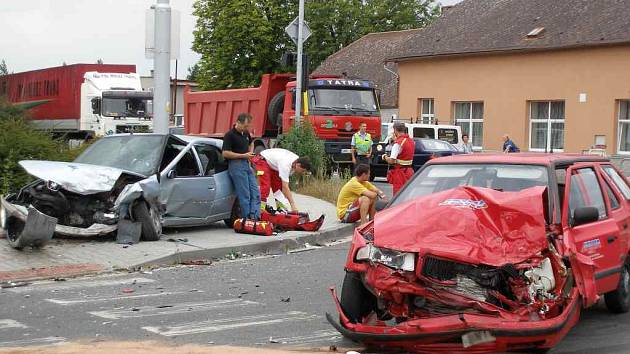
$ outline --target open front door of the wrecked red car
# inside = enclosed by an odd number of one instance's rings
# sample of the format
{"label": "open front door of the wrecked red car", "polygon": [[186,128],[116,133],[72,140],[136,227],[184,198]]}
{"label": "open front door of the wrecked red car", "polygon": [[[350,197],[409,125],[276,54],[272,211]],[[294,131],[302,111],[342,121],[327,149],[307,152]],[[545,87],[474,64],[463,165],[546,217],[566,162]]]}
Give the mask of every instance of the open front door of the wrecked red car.
{"label": "open front door of the wrecked red car", "polygon": [[[609,202],[602,190],[603,181],[596,168],[595,164],[581,163],[567,170],[562,220],[569,249],[576,253],[576,261],[582,263],[585,273],[582,278],[592,277],[577,279],[578,283],[580,280],[585,284],[594,280],[597,293],[602,294],[614,290],[619,281],[620,249],[615,242],[619,239],[620,229],[611,217]],[[576,211],[587,207],[597,209],[598,219],[577,224],[574,218]],[[592,269],[586,269],[588,266]]]}

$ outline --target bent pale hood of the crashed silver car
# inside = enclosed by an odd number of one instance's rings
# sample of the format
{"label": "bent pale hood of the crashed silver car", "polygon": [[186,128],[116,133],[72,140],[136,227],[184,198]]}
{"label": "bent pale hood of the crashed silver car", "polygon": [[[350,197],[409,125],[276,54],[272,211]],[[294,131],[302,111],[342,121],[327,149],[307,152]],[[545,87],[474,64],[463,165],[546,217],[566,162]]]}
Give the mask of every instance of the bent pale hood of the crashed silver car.
{"label": "bent pale hood of the crashed silver car", "polygon": [[20,166],[32,176],[55,182],[70,192],[85,195],[112,190],[123,173],[145,177],[114,167],[75,162],[24,160],[20,161]]}

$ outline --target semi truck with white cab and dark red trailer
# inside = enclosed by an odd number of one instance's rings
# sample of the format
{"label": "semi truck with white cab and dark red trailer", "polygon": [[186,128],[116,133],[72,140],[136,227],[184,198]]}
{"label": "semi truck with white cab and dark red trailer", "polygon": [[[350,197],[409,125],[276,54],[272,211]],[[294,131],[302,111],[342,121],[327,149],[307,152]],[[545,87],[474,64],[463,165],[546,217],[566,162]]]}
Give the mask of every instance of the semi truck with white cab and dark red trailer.
{"label": "semi truck with white cab and dark red trailer", "polygon": [[0,96],[29,109],[35,127],[68,139],[153,129],[153,93],[135,65],[73,64],[0,77]]}

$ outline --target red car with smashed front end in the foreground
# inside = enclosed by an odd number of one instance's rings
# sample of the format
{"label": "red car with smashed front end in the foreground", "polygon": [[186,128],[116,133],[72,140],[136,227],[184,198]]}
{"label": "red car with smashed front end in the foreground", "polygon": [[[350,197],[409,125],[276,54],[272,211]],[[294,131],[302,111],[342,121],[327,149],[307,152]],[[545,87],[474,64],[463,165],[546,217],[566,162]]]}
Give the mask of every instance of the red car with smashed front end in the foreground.
{"label": "red car with smashed front end in the foreground", "polygon": [[344,336],[414,352],[546,351],[604,297],[630,309],[630,186],[603,158],[430,161],[357,228]]}

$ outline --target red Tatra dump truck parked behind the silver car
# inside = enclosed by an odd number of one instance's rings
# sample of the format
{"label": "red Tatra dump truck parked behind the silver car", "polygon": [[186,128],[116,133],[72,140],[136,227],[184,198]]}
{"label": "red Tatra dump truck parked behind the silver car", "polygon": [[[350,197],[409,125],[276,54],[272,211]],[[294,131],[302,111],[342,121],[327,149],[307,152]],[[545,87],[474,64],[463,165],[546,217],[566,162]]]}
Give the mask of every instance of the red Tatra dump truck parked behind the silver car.
{"label": "red Tatra dump truck parked behind the silver car", "polygon": [[[254,117],[250,134],[255,149],[275,147],[295,120],[296,82],[293,74],[265,74],[259,87],[184,93],[186,134],[223,137],[239,113]],[[350,141],[359,124],[367,123],[379,141],[381,115],[371,81],[313,77],[304,93],[303,116],[324,141],[326,153],[337,163],[350,163]]]}

